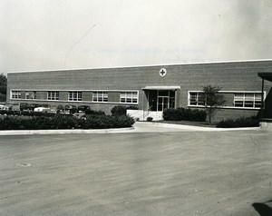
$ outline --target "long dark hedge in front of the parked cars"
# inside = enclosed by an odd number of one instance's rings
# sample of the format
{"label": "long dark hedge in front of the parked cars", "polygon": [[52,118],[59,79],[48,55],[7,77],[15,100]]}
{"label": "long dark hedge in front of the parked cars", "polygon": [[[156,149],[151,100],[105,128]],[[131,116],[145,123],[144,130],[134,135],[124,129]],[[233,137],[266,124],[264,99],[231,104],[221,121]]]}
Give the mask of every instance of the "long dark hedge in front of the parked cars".
{"label": "long dark hedge in front of the parked cars", "polygon": [[129,116],[5,116],[0,118],[0,130],[107,129],[131,127],[133,123]]}

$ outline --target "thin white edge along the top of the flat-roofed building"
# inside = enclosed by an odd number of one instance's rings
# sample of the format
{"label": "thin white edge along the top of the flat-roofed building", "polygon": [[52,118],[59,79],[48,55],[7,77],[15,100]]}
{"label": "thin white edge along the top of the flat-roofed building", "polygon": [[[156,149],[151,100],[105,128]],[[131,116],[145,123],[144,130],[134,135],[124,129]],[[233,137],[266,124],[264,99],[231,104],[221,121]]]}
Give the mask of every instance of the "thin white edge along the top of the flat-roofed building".
{"label": "thin white edge along the top of the flat-roofed building", "polygon": [[272,62],[272,59],[256,59],[256,60],[235,60],[235,61],[219,61],[219,62],[199,62],[199,63],[181,63],[181,64],[150,64],[150,65],[131,65],[131,66],[113,66],[113,67],[94,67],[94,68],[70,68],[70,69],[49,69],[36,71],[11,71],[7,74],[15,73],[34,73],[34,72],[54,72],[54,71],[81,71],[81,70],[99,70],[99,69],[122,69],[122,68],[137,68],[137,67],[155,67],[155,66],[175,66],[175,65],[190,65],[190,64],[228,64],[228,63],[251,63],[251,62]]}

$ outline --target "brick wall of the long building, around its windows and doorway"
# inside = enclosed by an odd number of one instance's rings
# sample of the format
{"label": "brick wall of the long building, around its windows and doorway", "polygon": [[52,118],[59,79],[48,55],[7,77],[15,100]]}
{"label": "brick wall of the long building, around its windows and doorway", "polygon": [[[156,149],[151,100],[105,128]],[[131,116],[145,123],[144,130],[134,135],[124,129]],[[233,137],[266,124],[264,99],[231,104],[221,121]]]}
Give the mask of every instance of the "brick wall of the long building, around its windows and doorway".
{"label": "brick wall of the long building, around its windows and doorway", "polygon": [[[160,68],[164,67],[167,74],[160,77]],[[118,90],[139,91],[139,107],[146,108],[147,98],[142,88],[146,86],[180,86],[176,103],[179,107],[187,107],[188,92],[201,90],[203,86],[211,84],[222,87],[223,91],[260,91],[261,78],[258,72],[271,72],[272,61],[234,62],[217,64],[177,64],[143,67],[123,67],[106,69],[86,69],[69,71],[46,71],[30,73],[7,74],[7,101],[10,100],[10,90],[43,91],[41,98],[46,101],[46,91],[57,90],[90,90],[83,93],[83,100],[92,102],[92,90],[116,90],[109,92],[109,101],[112,103],[87,103],[95,110],[110,111],[119,103]],[[272,83],[265,82],[265,91],[270,95]],[[68,93],[60,92],[60,100],[67,101]],[[270,94],[269,94],[270,93]],[[23,96],[23,95],[22,95]],[[266,107],[271,107],[271,96]],[[30,103],[16,101],[16,103]],[[44,102],[31,102],[44,103]],[[46,102],[50,104],[75,104],[75,102]],[[231,98],[228,98],[231,103]],[[83,103],[86,105],[86,103]],[[127,104],[129,105],[129,104]],[[257,113],[251,110],[226,110],[221,116],[252,115]],[[269,113],[269,112],[268,112]],[[217,114],[220,117],[220,114]]]}

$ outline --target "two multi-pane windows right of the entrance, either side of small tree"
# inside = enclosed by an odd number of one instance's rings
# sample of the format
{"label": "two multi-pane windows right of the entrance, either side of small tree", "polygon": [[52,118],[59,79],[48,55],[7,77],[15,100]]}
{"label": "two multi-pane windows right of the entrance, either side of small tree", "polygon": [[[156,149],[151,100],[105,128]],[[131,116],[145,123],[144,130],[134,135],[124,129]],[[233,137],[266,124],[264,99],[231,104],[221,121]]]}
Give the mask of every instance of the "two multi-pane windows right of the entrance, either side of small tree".
{"label": "two multi-pane windows right of the entrance, either side of small tree", "polygon": [[[262,93],[234,93],[234,107],[260,108],[262,104]],[[203,106],[203,93],[189,93],[189,105]]]}

